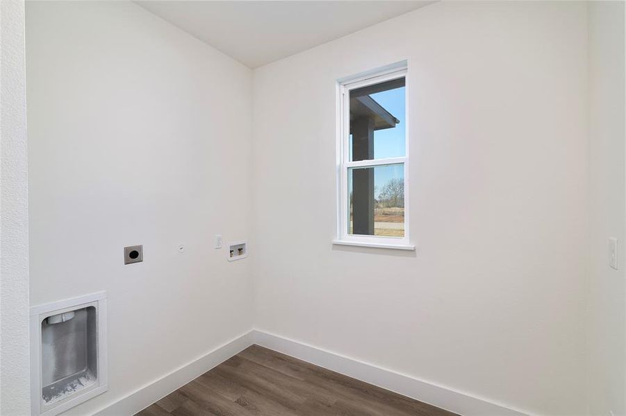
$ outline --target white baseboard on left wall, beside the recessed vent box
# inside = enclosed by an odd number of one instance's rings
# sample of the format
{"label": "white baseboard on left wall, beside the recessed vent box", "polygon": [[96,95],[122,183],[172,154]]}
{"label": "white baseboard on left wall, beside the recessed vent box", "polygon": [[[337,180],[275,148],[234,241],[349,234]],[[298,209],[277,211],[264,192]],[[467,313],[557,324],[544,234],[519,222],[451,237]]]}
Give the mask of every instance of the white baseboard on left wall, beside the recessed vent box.
{"label": "white baseboard on left wall, beside the recessed vent box", "polygon": [[147,408],[158,399],[161,399],[179,387],[189,383],[200,374],[204,374],[211,368],[220,365],[227,359],[231,358],[243,351],[253,342],[253,332],[249,331],[241,336],[225,343],[221,347],[213,349],[204,356],[197,358],[186,365],[182,365],[176,370],[166,374],[165,376],[144,385],[138,390],[135,390],[131,394],[123,397],[122,399],[115,401],[113,404],[106,406],[106,408],[99,410],[95,415],[97,416],[120,416],[120,415],[134,415],[140,410]]}

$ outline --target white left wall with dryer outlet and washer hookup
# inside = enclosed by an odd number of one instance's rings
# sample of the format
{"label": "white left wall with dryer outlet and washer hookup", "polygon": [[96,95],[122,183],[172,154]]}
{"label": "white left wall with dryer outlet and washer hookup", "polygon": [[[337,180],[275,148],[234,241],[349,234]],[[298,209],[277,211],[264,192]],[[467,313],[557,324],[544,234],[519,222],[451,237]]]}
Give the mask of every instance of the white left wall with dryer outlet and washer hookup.
{"label": "white left wall with dryer outlet and washer hookup", "polygon": [[26,58],[31,304],[108,293],[85,415],[252,328],[252,71],[131,2],[29,1]]}

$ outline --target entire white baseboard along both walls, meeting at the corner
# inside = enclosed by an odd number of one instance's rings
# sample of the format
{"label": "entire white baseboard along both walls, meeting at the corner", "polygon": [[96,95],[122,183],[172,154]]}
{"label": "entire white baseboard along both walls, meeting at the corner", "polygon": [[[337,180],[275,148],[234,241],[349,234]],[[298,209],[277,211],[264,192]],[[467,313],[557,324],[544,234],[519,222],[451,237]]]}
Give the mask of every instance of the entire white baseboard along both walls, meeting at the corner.
{"label": "entire white baseboard along both walls, meeting at the corner", "polygon": [[313,347],[267,331],[254,329],[217,347],[204,356],[170,372],[126,397],[99,410],[97,416],[134,415],[150,406],[158,399],[169,395],[177,388],[192,381],[200,374],[226,361],[252,344],[261,345],[274,351],[287,354],[320,367],[378,385],[381,388],[400,393],[407,397],[432,404],[439,408],[459,413],[463,416],[528,416],[520,410],[513,410],[502,404],[458,392],[441,385],[429,383],[399,372],[387,370],[377,365],[364,363],[353,358]]}

